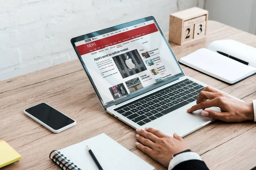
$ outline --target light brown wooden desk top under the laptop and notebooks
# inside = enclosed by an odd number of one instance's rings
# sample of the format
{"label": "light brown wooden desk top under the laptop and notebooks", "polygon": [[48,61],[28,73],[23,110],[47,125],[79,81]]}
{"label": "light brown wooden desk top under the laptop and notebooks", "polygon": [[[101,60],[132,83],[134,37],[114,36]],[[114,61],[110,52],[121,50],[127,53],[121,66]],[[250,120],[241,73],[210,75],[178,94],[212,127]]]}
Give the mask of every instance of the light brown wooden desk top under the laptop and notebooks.
{"label": "light brown wooden desk top under the laptop and notebooks", "polygon": [[[177,59],[206,48],[213,40],[233,39],[256,47],[256,36],[209,21],[207,37],[186,45],[170,43]],[[75,52],[74,52],[74,55]],[[256,99],[256,75],[228,85],[181,65],[187,76],[228,94],[251,102]],[[77,125],[54,134],[23,114],[25,108],[47,102],[77,121]],[[0,82],[0,139],[6,140],[22,156],[6,169],[50,169],[58,167],[49,153],[106,133],[156,169],[163,167],[135,147],[135,130],[106,113],[99,103],[79,60]],[[211,170],[249,170],[256,166],[256,123],[215,121],[184,137]]]}

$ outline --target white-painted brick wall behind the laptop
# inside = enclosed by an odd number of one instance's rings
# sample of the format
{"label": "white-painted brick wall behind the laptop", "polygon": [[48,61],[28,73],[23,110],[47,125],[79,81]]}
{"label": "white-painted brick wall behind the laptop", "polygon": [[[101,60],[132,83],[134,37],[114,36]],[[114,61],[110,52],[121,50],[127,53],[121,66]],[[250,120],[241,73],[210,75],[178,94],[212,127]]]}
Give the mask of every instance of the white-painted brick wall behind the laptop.
{"label": "white-painted brick wall behind the laptop", "polygon": [[154,15],[168,31],[169,14],[204,0],[0,0],[0,81],[76,59],[70,39]]}

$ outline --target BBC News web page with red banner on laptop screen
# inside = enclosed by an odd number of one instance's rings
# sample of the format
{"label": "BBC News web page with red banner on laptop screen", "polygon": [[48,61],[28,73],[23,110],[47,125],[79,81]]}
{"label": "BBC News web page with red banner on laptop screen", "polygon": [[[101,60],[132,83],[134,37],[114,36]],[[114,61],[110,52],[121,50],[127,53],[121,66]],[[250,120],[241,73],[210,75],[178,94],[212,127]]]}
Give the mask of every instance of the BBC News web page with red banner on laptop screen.
{"label": "BBC News web page with red banner on laptop screen", "polygon": [[154,20],[75,45],[104,103],[181,72]]}

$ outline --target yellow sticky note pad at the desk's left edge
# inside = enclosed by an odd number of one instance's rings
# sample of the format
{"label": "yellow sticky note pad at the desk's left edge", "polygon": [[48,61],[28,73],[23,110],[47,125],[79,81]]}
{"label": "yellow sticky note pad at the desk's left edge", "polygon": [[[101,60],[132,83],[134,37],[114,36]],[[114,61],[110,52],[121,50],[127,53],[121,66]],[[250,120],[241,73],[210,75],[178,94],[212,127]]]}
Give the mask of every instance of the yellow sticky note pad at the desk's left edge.
{"label": "yellow sticky note pad at the desk's left edge", "polygon": [[19,153],[16,152],[8,143],[0,140],[0,168],[21,159]]}

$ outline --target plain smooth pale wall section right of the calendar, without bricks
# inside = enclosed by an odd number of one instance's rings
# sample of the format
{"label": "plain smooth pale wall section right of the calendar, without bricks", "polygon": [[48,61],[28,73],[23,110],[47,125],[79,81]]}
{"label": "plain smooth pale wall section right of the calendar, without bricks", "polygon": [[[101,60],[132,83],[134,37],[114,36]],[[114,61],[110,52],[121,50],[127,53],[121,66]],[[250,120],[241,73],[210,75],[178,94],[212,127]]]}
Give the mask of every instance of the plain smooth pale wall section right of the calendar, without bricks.
{"label": "plain smooth pale wall section right of the calendar, without bricks", "polygon": [[256,34],[256,0],[206,0],[209,20]]}

